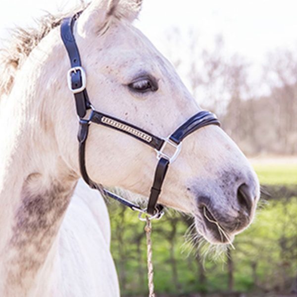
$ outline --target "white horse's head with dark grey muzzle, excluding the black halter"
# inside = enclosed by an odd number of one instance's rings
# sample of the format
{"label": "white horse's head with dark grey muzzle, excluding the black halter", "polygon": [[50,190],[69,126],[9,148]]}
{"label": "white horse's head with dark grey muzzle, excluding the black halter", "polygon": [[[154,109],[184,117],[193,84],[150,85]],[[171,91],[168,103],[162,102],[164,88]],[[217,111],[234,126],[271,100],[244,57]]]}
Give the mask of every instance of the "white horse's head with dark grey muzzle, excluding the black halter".
{"label": "white horse's head with dark grey muzzle, excluding the black halter", "polygon": [[[141,0],[94,0],[81,13],[74,36],[94,108],[167,137],[201,111],[174,67],[132,25]],[[56,54],[63,82],[56,125],[63,158],[79,173],[77,120],[64,76],[69,61],[62,44]],[[153,149],[108,127],[91,125],[86,168],[93,181],[147,195],[156,156]],[[198,233],[211,243],[233,240],[251,223],[259,183],[242,151],[217,126],[205,126],[183,142],[170,166],[159,202],[190,213]],[[222,236],[221,231],[224,231]]]}

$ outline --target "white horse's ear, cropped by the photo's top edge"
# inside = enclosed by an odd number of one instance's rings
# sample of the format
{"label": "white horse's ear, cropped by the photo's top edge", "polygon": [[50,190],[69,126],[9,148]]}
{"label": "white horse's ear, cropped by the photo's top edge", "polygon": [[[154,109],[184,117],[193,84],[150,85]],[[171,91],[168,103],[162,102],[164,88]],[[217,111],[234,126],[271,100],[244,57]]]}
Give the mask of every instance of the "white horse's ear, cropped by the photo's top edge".
{"label": "white horse's ear, cropped by the photo's top edge", "polygon": [[78,20],[78,30],[99,32],[110,17],[132,22],[141,10],[142,0],[93,0]]}

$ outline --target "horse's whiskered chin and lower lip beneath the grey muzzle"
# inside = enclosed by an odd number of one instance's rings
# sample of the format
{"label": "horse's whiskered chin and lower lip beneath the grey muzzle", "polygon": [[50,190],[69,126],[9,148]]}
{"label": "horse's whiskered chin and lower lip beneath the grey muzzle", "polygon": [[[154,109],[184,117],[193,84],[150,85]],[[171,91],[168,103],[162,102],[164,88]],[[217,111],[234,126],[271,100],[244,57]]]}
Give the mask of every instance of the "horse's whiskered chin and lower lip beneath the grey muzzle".
{"label": "horse's whiskered chin and lower lip beneath the grey muzzle", "polygon": [[198,234],[212,245],[228,245],[234,241],[235,235],[219,230],[214,223],[204,220],[204,216],[195,215],[195,227]]}

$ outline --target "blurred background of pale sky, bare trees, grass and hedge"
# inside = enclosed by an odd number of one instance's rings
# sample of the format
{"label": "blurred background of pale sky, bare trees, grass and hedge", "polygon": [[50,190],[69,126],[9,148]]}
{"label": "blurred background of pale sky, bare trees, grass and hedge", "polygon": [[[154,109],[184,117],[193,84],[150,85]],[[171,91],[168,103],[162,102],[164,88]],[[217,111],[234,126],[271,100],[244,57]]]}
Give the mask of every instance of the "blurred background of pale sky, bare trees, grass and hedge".
{"label": "blurred background of pale sky, bare trees, grass and hedge", "polygon": [[[14,25],[36,26],[45,10],[77,2],[5,1],[1,40]],[[185,215],[168,211],[153,222],[158,297],[297,294],[296,11],[296,0],[144,1],[136,26],[175,65],[198,103],[219,116],[262,186],[254,223],[236,237],[235,250],[220,255],[190,242],[192,220]],[[144,225],[131,210],[108,206],[122,296],[147,296]]]}

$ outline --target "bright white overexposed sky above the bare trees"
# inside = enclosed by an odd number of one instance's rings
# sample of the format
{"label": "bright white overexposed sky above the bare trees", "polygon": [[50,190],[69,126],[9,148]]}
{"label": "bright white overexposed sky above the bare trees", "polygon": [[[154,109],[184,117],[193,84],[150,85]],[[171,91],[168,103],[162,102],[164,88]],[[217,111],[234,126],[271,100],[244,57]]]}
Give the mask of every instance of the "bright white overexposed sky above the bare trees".
{"label": "bright white overexposed sky above the bare trees", "polygon": [[[9,0],[0,9],[0,38],[7,28],[32,26],[45,11],[54,13],[78,0]],[[135,25],[166,55],[166,32],[198,32],[202,48],[222,34],[225,49],[260,65],[277,48],[297,49],[297,0],[144,0]],[[168,48],[168,45],[167,45]],[[181,52],[180,54],[183,54]]]}

